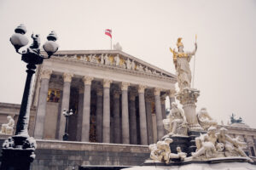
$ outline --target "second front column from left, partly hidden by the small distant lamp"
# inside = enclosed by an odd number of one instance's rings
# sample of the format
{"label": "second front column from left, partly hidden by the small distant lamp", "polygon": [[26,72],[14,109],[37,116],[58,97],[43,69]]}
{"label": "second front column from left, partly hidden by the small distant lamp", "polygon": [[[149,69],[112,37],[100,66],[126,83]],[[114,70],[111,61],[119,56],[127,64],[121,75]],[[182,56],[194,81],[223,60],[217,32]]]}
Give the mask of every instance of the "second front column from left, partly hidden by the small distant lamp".
{"label": "second front column from left, partly hidden by the small distant lamp", "polygon": [[70,98],[70,84],[72,80],[73,74],[64,73],[63,79],[63,94],[62,94],[62,102],[61,102],[61,118],[60,118],[60,128],[59,128],[59,139],[62,139],[65,130],[65,116],[62,115],[62,111],[66,109],[69,110],[69,98]]}

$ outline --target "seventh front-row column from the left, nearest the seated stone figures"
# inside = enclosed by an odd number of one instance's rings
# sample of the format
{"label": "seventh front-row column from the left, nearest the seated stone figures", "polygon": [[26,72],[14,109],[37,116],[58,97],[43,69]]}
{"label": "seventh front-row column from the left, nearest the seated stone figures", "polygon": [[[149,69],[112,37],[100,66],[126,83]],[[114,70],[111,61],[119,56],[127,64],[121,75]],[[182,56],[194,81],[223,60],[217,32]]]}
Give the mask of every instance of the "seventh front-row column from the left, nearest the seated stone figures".
{"label": "seventh front-row column from the left, nearest the seated stone figures", "polygon": [[162,111],[160,104],[160,88],[154,88],[155,116],[157,124],[157,139],[160,140],[164,136],[164,125],[162,119]]}

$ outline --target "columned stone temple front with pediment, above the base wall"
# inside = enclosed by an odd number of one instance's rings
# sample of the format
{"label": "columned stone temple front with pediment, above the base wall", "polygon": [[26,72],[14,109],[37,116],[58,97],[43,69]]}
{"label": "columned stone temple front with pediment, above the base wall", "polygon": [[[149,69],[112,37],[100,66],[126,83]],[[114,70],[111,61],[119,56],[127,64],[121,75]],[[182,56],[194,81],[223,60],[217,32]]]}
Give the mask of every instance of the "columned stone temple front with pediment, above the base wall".
{"label": "columned stone temple front with pediment, above the base wall", "polygon": [[172,73],[119,50],[59,51],[38,66],[33,136],[61,140],[62,111],[73,109],[67,129],[71,141],[152,144],[164,134],[161,101],[176,82]]}

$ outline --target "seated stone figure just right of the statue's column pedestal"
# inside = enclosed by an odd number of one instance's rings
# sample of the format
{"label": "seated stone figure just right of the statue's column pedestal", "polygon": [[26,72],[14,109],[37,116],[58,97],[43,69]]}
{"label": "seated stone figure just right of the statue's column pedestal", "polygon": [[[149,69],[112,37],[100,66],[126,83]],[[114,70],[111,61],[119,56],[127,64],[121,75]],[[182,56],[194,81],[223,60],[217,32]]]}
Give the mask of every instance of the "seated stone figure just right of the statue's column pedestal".
{"label": "seated stone figure just right of the statue's column pedestal", "polygon": [[204,130],[207,130],[209,127],[217,127],[217,122],[209,116],[207,108],[201,108],[201,111],[197,113],[197,119]]}

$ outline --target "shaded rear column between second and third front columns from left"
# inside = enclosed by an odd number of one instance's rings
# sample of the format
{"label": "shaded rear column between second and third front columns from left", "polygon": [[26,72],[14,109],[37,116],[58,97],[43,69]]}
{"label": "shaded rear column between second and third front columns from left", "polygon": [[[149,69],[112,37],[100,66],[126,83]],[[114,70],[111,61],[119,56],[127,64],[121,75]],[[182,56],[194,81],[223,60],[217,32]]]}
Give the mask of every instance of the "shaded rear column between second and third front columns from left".
{"label": "shaded rear column between second and third front columns from left", "polygon": [[79,108],[78,108],[78,124],[77,124],[77,141],[81,141],[82,121],[84,108],[84,88],[79,88]]}

